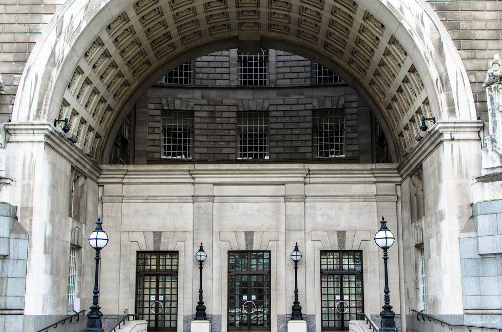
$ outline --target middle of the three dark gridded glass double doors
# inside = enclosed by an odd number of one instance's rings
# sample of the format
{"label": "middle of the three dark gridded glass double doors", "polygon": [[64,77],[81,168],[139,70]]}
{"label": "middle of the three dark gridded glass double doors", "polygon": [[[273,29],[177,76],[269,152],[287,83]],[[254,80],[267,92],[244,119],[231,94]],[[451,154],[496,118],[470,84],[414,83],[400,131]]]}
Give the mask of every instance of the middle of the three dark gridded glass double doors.
{"label": "middle of the three dark gridded glass double doors", "polygon": [[270,251],[228,252],[228,330],[270,331]]}

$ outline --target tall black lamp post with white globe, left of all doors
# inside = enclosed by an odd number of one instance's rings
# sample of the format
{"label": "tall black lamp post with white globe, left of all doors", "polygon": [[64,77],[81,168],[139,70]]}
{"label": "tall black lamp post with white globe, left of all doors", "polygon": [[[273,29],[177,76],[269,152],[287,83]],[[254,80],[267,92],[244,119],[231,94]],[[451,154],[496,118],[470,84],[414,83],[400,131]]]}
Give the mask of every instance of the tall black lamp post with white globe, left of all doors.
{"label": "tall black lamp post with white globe, left of all doors", "polygon": [[99,303],[99,289],[98,289],[98,277],[99,277],[99,252],[108,244],[108,235],[103,231],[101,227],[103,223],[101,222],[101,218],[97,218],[96,229],[89,236],[89,244],[92,248],[96,250],[96,274],[94,276],[94,296],[92,297],[92,306],[89,308],[91,311],[87,314],[87,327],[84,332],[103,332],[103,327],[101,323],[101,317],[103,314],[99,309],[101,307],[98,305]]}

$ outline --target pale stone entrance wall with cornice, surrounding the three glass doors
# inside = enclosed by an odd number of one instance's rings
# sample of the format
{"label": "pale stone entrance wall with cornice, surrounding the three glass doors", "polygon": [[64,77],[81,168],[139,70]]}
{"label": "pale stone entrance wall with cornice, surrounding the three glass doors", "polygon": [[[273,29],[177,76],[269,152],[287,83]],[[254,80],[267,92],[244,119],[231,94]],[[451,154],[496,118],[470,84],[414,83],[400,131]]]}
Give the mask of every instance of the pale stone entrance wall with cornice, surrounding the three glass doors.
{"label": "pale stone entrance wall with cornice, surrounding the three glass doors", "polygon": [[[194,254],[200,242],[208,254],[203,270],[206,312],[213,315],[213,330],[226,330],[227,252],[246,250],[244,231],[254,231],[253,249],[271,251],[273,331],[282,330],[291,313],[294,270],[289,254],[295,242],[304,254],[300,302],[315,330],[321,327],[320,250],[363,251],[365,312],[378,314],[383,264],[373,236],[384,215],[399,237],[397,183],[393,164],[103,166],[103,227],[110,237],[103,250],[103,312],[134,312],[136,252],[154,250],[153,232],[159,231],[156,249],[180,255],[178,330],[195,312]],[[391,302],[399,313],[397,246],[390,256]],[[214,319],[221,319],[221,326]]]}

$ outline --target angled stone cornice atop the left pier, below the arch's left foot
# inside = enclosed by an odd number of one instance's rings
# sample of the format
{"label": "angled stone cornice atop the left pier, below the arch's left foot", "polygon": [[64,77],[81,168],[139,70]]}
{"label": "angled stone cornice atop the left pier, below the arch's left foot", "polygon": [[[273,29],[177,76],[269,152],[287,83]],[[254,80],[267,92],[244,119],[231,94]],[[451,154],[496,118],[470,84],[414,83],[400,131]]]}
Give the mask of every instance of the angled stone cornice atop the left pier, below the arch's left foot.
{"label": "angled stone cornice atop the left pier, below the arch's left foot", "polygon": [[7,144],[44,143],[97,182],[102,171],[101,167],[49,123],[10,122],[6,123],[5,128],[10,135]]}

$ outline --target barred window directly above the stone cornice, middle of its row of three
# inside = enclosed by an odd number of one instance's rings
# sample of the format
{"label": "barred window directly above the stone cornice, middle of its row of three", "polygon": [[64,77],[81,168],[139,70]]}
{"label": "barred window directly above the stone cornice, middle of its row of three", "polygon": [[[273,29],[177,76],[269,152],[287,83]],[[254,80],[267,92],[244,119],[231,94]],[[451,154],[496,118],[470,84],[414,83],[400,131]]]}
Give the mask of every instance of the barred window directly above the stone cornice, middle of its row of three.
{"label": "barred window directly above the stone cornice, middle of its row of three", "polygon": [[237,159],[269,158],[269,113],[237,113]]}

